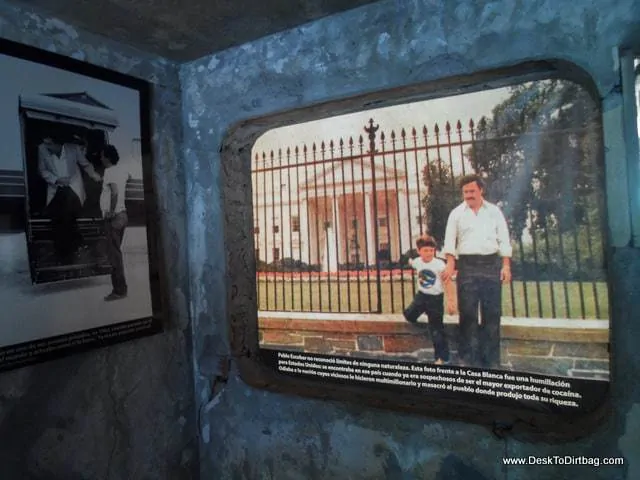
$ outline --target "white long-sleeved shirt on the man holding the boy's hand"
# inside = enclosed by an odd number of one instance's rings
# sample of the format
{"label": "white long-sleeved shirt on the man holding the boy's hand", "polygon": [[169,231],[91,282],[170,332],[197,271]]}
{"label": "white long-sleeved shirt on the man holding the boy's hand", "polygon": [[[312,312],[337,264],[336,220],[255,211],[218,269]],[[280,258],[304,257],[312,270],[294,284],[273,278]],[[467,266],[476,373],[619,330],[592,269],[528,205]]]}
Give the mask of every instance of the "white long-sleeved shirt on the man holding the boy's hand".
{"label": "white long-sleeved shirt on the man holding the boy's hand", "polygon": [[513,248],[502,211],[486,200],[482,201],[478,213],[467,202],[458,205],[447,220],[443,253],[456,257],[493,254],[511,257]]}

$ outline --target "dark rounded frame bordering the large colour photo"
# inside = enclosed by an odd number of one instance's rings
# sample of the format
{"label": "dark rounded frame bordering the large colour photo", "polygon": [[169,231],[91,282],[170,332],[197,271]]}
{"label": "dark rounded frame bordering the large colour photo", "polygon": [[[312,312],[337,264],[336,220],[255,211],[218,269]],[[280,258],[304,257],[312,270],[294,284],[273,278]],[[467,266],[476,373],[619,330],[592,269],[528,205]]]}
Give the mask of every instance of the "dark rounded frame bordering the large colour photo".
{"label": "dark rounded frame bordering the large colour photo", "polygon": [[[489,427],[498,436],[510,434],[528,440],[555,442],[580,438],[599,428],[611,412],[611,390],[615,377],[599,384],[590,381],[574,379],[565,381],[562,379],[562,388],[575,389],[580,392],[582,398],[580,408],[573,410],[562,408],[564,405],[552,405],[547,408],[537,404],[536,399],[529,402],[529,399],[525,399],[524,396],[524,401],[513,401],[512,399],[503,399],[504,401],[502,401],[497,398],[477,395],[476,392],[470,395],[448,396],[441,389],[439,391],[436,389],[420,391],[413,386],[404,388],[395,385],[394,382],[371,381],[373,378],[380,378],[380,374],[373,373],[373,369],[382,369],[388,373],[390,370],[401,370],[397,368],[398,365],[404,366],[405,370],[408,368],[409,371],[412,366],[419,366],[409,362],[382,361],[376,357],[374,359],[376,365],[371,365],[372,362],[367,359],[362,362],[362,358],[356,359],[355,356],[338,353],[307,353],[277,346],[265,348],[263,345],[264,331],[261,328],[259,316],[260,298],[256,279],[259,262],[257,258],[246,255],[247,251],[254,252],[260,248],[254,233],[256,227],[260,230],[264,226],[258,223],[253,212],[255,198],[253,189],[247,189],[242,197],[243,201],[239,201],[235,187],[242,182],[247,185],[252,184],[253,171],[251,169],[254,158],[251,150],[256,140],[271,129],[382,106],[398,105],[411,100],[430,100],[457,95],[461,92],[471,93],[509,86],[518,82],[550,79],[568,80],[579,84],[593,99],[601,117],[597,88],[589,74],[574,64],[551,59],[339,99],[284,113],[279,112],[270,116],[249,119],[238,122],[229,128],[221,148],[226,192],[225,218],[227,219],[227,228],[225,229],[225,237],[229,246],[227,262],[230,287],[227,302],[232,355],[237,359],[241,378],[252,387],[283,394],[336,400],[355,406],[367,405],[433,418],[476,423]],[[601,132],[601,128],[600,124],[599,132]],[[603,153],[602,145],[600,145],[597,155],[598,162],[601,164]],[[256,158],[259,157],[260,155]],[[280,168],[279,163],[277,163],[277,168]],[[602,187],[604,188],[604,185]],[[606,269],[609,255],[609,238],[606,228],[604,228],[607,223],[606,208],[602,212],[602,241],[604,268]],[[236,220],[238,218],[248,220],[239,223]],[[607,289],[609,288],[610,281],[607,281]],[[607,296],[610,298],[609,293],[607,290]],[[282,313],[289,312],[283,311]],[[274,323],[285,324],[288,317],[274,318],[276,320]],[[295,322],[290,323],[293,325]],[[611,332],[613,324],[615,324],[615,319],[611,318],[609,332]],[[297,327],[285,326],[283,328],[291,328],[293,331]],[[611,351],[607,356],[608,361],[612,361]],[[358,360],[359,364],[353,360]],[[344,373],[344,367],[362,370],[362,365],[365,363],[368,364],[366,368],[369,369],[364,375],[368,377],[366,382],[351,377],[351,375],[363,375],[362,372]],[[324,368],[326,365],[329,365],[329,368]],[[340,368],[335,368],[336,365]],[[494,374],[500,374],[500,371],[489,368],[456,365],[447,365],[442,368],[436,366],[434,370],[436,371],[430,370],[429,374],[440,375],[443,373],[450,375],[450,378],[454,380],[464,380],[465,377],[469,377],[469,379],[491,378]],[[447,379],[434,381],[449,382]],[[511,379],[509,378],[507,381],[511,381]],[[515,379],[515,381],[520,380]],[[523,381],[540,385],[551,384],[549,378],[544,375],[532,374]],[[553,381],[558,380],[554,379]],[[561,403],[564,404],[564,402]]]}

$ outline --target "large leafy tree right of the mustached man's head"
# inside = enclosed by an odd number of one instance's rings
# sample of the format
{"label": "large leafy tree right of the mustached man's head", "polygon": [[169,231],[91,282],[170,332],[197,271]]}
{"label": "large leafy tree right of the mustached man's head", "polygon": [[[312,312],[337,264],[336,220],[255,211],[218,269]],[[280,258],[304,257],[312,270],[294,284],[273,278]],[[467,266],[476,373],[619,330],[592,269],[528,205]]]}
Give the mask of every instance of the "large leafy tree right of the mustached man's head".
{"label": "large leafy tree right of the mustached man's head", "polygon": [[478,123],[475,140],[471,165],[487,177],[487,198],[501,205],[515,238],[527,224],[573,230],[600,211],[599,112],[579,85],[512,87],[493,118]]}

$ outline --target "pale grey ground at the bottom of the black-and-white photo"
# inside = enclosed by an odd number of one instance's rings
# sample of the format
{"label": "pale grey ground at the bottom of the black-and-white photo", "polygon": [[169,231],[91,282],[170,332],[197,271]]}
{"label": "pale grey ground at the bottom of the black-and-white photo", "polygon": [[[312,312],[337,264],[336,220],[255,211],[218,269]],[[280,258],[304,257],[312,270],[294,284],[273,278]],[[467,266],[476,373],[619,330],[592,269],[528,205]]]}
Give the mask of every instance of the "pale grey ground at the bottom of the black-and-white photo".
{"label": "pale grey ground at the bottom of the black-and-white photo", "polygon": [[0,234],[0,347],[151,315],[146,229],[123,240],[127,298],[105,302],[108,275],[32,285],[24,234]]}

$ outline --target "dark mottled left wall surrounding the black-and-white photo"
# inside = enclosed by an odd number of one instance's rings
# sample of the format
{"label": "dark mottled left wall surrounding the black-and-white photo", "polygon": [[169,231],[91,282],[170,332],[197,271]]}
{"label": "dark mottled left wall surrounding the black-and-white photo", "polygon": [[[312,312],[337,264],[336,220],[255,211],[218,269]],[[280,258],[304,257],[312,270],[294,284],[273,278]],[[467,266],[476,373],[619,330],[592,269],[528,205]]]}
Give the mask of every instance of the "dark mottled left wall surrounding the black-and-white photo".
{"label": "dark mottled left wall surrounding the black-and-white photo", "polygon": [[170,266],[164,333],[0,375],[0,477],[197,478],[176,67],[3,1],[0,37],[154,84],[153,173]]}

